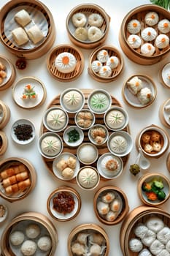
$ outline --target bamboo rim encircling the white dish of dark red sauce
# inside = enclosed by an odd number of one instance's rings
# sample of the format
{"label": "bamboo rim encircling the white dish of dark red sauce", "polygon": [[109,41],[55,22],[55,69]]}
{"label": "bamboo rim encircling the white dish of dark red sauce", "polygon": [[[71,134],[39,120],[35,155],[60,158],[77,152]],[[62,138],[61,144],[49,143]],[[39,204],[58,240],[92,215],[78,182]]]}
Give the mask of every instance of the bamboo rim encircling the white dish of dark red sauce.
{"label": "bamboo rim encircling the white dish of dark red sauce", "polygon": [[[60,219],[60,218],[57,218],[53,215],[52,211],[50,210],[50,200],[51,200],[51,197],[53,197],[55,194],[57,194],[58,192],[68,192],[68,193],[71,193],[73,194],[75,197],[77,197],[77,203],[78,203],[78,207],[77,207],[77,211],[75,212],[74,216],[72,217],[69,217],[68,219]],[[80,198],[80,195],[79,193],[77,192],[77,190],[73,189],[72,187],[66,187],[66,186],[63,186],[63,187],[58,187],[57,189],[55,189],[53,192],[50,193],[49,197],[47,198],[47,211],[48,213],[50,214],[50,216],[55,219],[55,220],[58,220],[58,221],[61,221],[61,222],[67,222],[71,219],[74,219],[75,217],[77,217],[77,215],[80,213],[80,208],[81,208],[81,198]]]}

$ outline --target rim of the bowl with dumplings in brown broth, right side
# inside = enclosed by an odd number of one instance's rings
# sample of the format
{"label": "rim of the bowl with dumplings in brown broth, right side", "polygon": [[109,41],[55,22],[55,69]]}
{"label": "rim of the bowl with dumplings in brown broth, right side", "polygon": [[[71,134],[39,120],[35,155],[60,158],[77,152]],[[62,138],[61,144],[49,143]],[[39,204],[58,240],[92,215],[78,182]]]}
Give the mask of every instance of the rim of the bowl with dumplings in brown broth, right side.
{"label": "rim of the bowl with dumplings in brown broth, right side", "polygon": [[[164,151],[163,151],[161,154],[157,154],[157,155],[155,155],[155,154],[149,154],[149,153],[145,152],[144,149],[143,149],[142,146],[141,146],[140,141],[139,141],[139,140],[140,140],[139,138],[142,136],[142,134],[143,134],[144,132],[148,132],[148,131],[150,131],[150,130],[154,130],[154,128],[156,128],[156,131],[157,131],[157,129],[158,129],[160,134],[163,133],[164,136],[165,136],[165,138],[166,138],[166,141],[167,141],[167,145],[166,145],[166,148],[164,148]],[[145,130],[145,129],[146,129],[146,130]],[[161,134],[161,136],[163,137],[162,134]],[[163,142],[163,143],[164,143],[164,142]],[[138,149],[138,148],[141,148],[141,150],[142,150],[142,152],[143,152],[143,154],[144,154],[145,157],[159,158],[159,157],[161,157],[161,156],[168,150],[168,148],[169,148],[169,135],[168,135],[168,133],[166,132],[166,130],[164,130],[163,128],[158,127],[158,126],[155,125],[155,124],[152,124],[152,125],[150,125],[150,126],[148,126],[148,127],[145,127],[144,129],[142,129],[142,130],[139,132],[139,134],[136,136],[136,148],[137,148],[137,149]]]}

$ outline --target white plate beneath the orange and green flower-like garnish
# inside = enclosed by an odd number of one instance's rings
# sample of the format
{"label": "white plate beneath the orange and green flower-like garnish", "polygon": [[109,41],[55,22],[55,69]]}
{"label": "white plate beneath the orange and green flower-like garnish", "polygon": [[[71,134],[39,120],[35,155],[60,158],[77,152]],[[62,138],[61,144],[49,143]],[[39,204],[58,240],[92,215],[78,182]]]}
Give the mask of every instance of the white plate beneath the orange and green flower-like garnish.
{"label": "white plate beneath the orange and green flower-like garnish", "polygon": [[[24,87],[30,84],[37,94],[36,99],[22,99]],[[12,97],[20,108],[36,108],[45,99],[46,89],[42,82],[33,77],[21,78],[12,89]]]}

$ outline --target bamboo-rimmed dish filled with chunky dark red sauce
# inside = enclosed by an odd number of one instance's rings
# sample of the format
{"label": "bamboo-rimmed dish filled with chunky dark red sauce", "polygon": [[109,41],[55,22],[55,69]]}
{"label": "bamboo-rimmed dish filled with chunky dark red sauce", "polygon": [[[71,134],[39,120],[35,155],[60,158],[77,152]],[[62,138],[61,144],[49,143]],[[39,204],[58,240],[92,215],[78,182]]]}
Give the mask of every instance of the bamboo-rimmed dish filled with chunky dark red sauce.
{"label": "bamboo-rimmed dish filled with chunky dark red sauce", "polygon": [[[65,203],[63,204],[63,201]],[[66,222],[77,217],[81,208],[79,193],[72,187],[58,187],[47,198],[47,211],[53,219]]]}

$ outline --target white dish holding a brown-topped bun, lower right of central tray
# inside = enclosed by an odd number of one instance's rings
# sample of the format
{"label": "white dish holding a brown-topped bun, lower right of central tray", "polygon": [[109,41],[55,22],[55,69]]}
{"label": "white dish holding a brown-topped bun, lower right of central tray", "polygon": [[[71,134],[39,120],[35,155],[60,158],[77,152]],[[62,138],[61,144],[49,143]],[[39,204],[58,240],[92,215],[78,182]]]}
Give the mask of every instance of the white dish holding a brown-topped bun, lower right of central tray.
{"label": "white dish holding a brown-topped bun, lower right of central tray", "polygon": [[[115,170],[109,170],[107,168],[107,164],[109,163],[110,166],[112,166],[112,160],[114,161],[114,165],[117,165]],[[104,178],[117,178],[123,172],[123,160],[121,159],[121,157],[116,157],[112,153],[102,154],[101,157],[98,158],[97,170]]]}

